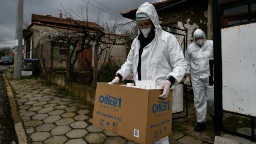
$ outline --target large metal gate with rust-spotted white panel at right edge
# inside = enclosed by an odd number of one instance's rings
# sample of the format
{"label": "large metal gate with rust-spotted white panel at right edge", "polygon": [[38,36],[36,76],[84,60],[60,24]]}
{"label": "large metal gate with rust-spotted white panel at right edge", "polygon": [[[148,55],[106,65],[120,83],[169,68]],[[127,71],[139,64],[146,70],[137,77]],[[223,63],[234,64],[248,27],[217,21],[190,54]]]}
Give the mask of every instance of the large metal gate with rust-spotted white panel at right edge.
{"label": "large metal gate with rust-spotted white panel at right edge", "polygon": [[[214,101],[215,101],[215,135],[221,131],[256,140],[254,119],[256,118],[255,81],[256,76],[256,19],[252,14],[255,0],[240,1],[225,7],[219,7],[213,1],[213,44],[214,44]],[[225,10],[247,7],[246,19],[234,20],[223,17]],[[241,9],[240,9],[241,10]],[[227,11],[226,11],[227,12]],[[222,21],[221,21],[222,16]],[[221,23],[222,22],[222,23]],[[235,24],[234,24],[235,23]],[[251,122],[251,135],[238,133],[236,125],[223,123],[223,115],[232,114]]]}

